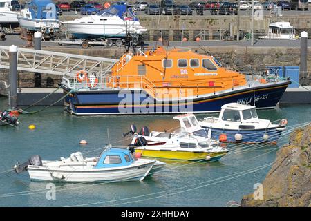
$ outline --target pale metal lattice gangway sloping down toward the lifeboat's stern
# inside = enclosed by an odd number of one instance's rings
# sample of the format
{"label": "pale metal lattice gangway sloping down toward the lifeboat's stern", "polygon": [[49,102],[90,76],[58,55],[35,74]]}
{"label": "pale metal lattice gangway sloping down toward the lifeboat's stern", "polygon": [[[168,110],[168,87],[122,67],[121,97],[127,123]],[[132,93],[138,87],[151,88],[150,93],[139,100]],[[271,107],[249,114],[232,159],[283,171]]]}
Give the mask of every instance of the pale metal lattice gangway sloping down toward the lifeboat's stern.
{"label": "pale metal lattice gangway sloping down toward the lifeboat's stern", "polygon": [[[9,69],[9,47],[0,46],[0,68]],[[51,75],[75,75],[79,70],[104,76],[109,73],[117,59],[73,55],[62,52],[17,49],[17,70],[30,73],[45,73]]]}

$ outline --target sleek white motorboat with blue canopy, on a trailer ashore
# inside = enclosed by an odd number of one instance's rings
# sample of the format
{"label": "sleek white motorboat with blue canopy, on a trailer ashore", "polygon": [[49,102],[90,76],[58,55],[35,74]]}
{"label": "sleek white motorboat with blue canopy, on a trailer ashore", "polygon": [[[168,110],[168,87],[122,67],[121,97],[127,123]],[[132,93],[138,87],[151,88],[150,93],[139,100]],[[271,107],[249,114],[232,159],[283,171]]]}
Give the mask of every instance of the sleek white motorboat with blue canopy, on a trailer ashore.
{"label": "sleek white motorboat with blue canopy, on a trailer ashore", "polygon": [[140,25],[130,7],[113,5],[95,15],[73,21],[61,22],[75,38],[126,37],[126,32],[141,34],[146,29]]}

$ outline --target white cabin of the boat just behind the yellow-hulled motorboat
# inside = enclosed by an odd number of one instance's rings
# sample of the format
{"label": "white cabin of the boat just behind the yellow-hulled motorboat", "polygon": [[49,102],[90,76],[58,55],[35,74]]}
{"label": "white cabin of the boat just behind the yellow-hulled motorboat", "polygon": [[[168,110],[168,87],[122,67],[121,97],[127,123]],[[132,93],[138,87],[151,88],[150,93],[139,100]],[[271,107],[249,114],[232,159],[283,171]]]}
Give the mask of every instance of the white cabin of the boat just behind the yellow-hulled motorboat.
{"label": "white cabin of the boat just behind the yellow-hulled motorboat", "polygon": [[198,119],[196,119],[194,114],[178,115],[173,117],[173,119],[179,120],[182,132],[191,133],[193,135],[205,138],[208,137],[207,132],[199,125]]}

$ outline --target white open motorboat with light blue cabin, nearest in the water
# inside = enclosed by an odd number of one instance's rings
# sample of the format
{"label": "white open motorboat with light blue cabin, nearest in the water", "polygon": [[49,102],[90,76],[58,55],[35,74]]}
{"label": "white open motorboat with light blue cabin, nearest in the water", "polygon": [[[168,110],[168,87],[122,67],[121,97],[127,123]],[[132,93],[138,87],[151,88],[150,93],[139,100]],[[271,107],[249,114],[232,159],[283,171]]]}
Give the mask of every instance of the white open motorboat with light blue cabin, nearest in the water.
{"label": "white open motorboat with light blue cabin, nearest in the water", "polygon": [[31,180],[54,182],[124,182],[144,180],[156,160],[136,159],[131,151],[107,147],[100,157],[84,158],[82,153],[55,161],[34,155],[14,166],[16,173],[28,171]]}

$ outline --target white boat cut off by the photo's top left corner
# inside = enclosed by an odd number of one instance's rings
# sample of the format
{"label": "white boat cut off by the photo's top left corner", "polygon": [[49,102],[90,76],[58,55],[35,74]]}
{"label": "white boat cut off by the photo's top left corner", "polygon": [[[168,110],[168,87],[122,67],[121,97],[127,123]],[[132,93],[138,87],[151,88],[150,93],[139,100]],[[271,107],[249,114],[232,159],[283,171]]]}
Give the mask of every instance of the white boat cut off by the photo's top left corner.
{"label": "white boat cut off by the photo's top left corner", "polygon": [[0,28],[17,28],[19,20],[17,12],[11,10],[12,0],[0,0]]}

